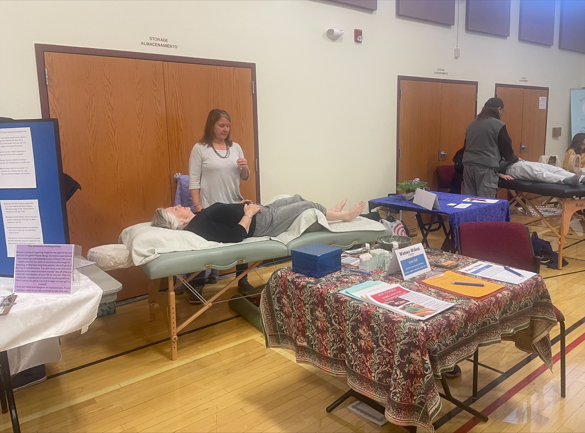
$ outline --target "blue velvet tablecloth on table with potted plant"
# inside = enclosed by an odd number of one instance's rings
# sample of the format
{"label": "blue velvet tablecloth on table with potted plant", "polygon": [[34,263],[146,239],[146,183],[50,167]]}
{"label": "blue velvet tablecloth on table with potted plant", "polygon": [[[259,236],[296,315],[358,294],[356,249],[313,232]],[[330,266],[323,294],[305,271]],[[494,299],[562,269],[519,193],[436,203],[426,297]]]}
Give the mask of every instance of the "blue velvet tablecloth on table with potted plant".
{"label": "blue velvet tablecloth on table with potted plant", "polygon": [[[457,209],[455,206],[447,206],[448,203],[467,203],[463,199],[475,196],[450,194],[448,192],[435,192],[439,199],[439,209],[428,210],[425,207],[415,205],[412,200],[407,200],[404,196],[392,195],[370,200],[370,209],[376,206],[392,207],[396,210],[410,210],[419,213],[441,213],[449,216],[449,226],[453,229],[453,241],[457,246],[455,238],[455,228],[461,223],[471,223],[473,221],[510,221],[510,205],[508,200],[498,200],[497,203],[472,203],[465,209]],[[481,198],[481,197],[477,197]]]}

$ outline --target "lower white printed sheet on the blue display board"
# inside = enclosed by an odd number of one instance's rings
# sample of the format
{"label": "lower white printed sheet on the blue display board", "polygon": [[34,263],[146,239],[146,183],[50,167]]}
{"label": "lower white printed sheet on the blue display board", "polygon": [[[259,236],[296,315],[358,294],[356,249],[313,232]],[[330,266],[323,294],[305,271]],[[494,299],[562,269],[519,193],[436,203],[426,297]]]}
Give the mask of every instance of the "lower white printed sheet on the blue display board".
{"label": "lower white printed sheet on the blue display board", "polygon": [[39,200],[0,200],[8,257],[16,244],[43,244]]}

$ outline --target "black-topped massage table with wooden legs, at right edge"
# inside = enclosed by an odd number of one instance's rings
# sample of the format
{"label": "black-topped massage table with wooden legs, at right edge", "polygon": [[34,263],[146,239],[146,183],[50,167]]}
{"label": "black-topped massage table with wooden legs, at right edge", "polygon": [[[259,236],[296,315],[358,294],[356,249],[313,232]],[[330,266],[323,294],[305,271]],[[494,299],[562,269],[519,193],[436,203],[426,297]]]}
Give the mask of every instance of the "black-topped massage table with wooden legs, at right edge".
{"label": "black-topped massage table with wooden legs, at right edge", "polygon": [[[530,212],[530,207],[538,214],[538,217],[546,224],[556,237],[559,238],[559,265],[558,269],[563,268],[563,247],[565,246],[565,235],[569,233],[570,222],[573,214],[577,210],[585,209],[585,185],[573,186],[563,185],[560,183],[544,183],[532,181],[504,181],[500,179],[498,183],[500,188],[509,189],[513,197],[508,200],[510,206],[518,203],[524,209],[528,216],[533,213]],[[528,198],[527,194],[538,194],[542,197],[556,198],[561,207],[560,228],[557,230],[553,227],[547,217],[538,210],[538,207]],[[534,199],[534,198],[532,198]]]}

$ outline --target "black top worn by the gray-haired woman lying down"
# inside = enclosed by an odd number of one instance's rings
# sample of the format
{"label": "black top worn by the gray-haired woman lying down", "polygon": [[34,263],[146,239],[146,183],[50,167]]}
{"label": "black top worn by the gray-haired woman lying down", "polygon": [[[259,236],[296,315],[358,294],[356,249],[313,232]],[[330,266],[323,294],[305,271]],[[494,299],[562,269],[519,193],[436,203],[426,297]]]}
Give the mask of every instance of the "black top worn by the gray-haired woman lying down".
{"label": "black top worn by the gray-haired woman lying down", "polygon": [[208,241],[237,243],[252,237],[256,230],[256,215],[252,217],[250,229],[240,226],[244,216],[244,204],[214,203],[195,214],[183,230],[192,231]]}

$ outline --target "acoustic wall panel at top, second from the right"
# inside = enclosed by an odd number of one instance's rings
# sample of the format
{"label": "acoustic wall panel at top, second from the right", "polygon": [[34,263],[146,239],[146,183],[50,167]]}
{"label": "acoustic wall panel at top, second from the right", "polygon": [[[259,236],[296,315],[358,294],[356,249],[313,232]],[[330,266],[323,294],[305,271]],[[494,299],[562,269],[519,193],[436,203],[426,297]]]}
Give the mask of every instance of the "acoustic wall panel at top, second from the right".
{"label": "acoustic wall panel at top, second from the right", "polygon": [[518,40],[552,47],[555,40],[555,0],[521,0]]}

